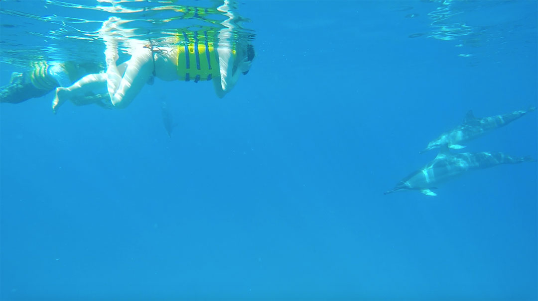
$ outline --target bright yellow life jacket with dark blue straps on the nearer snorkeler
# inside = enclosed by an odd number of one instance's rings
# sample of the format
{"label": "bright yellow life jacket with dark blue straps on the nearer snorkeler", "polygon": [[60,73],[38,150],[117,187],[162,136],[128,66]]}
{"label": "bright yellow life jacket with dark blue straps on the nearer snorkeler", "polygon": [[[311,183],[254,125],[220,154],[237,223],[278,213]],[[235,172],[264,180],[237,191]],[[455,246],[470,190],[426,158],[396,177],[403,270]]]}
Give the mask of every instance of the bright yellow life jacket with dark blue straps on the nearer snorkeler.
{"label": "bright yellow life jacket with dark blue straps on the nearer snorkeler", "polygon": [[[203,35],[198,32],[182,32],[178,40],[183,40],[183,45],[178,45],[177,70],[180,80],[194,80],[197,83],[199,80],[221,76],[217,46],[209,41],[207,32]],[[235,49],[232,49],[232,55],[235,54]]]}

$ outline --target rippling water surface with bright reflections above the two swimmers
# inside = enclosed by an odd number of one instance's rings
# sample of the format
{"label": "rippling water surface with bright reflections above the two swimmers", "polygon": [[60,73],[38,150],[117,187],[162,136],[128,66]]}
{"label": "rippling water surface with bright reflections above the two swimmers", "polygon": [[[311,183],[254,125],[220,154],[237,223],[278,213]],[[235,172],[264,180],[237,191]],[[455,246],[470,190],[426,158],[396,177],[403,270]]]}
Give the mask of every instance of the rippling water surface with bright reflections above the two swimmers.
{"label": "rippling water surface with bright reflections above the two swimmers", "polygon": [[[95,5],[90,5],[91,3]],[[222,28],[230,28],[232,43],[252,40],[254,33],[242,27],[250,20],[235,16],[227,20],[222,3],[176,1],[34,1],[2,2],[1,60],[18,66],[31,61],[73,60],[102,62],[104,43],[100,28],[110,16],[121,19],[118,49],[120,60],[132,41],[158,46],[183,45],[182,32],[203,32],[216,39]],[[233,9],[240,9],[235,2]],[[60,14],[61,12],[61,14]],[[224,24],[224,20],[228,25]],[[38,42],[28,43],[29,35]],[[124,57],[125,58],[125,57]]]}

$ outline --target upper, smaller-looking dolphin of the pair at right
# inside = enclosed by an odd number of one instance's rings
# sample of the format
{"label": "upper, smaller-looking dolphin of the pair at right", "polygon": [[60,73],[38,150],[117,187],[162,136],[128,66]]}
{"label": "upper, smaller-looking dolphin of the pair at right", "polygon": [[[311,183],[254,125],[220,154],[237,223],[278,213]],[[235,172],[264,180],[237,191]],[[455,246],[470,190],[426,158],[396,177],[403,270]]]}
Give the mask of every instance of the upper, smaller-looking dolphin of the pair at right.
{"label": "upper, smaller-looking dolphin of the pair at right", "polygon": [[485,118],[476,118],[472,114],[472,111],[469,111],[462,124],[451,131],[441,134],[436,140],[428,143],[426,149],[422,150],[420,153],[439,148],[442,145],[448,145],[451,149],[463,149],[465,146],[462,145],[462,143],[472,140],[480,135],[484,135],[493,129],[504,127],[506,124],[521,118],[521,116],[528,112],[532,112],[535,109],[535,107],[530,107],[527,111],[520,110],[509,114]]}

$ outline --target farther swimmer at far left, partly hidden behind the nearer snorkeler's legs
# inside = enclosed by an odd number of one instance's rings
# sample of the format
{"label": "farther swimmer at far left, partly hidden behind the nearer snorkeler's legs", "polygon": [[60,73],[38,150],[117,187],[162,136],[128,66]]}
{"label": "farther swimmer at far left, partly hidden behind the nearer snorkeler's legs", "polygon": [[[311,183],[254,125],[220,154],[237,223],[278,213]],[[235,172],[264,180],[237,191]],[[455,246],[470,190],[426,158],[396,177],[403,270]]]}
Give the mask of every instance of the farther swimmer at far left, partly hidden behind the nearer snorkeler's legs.
{"label": "farther swimmer at far left, partly hidden behind the nearer snorkeler's legs", "polygon": [[[31,69],[13,72],[9,84],[0,87],[0,102],[18,104],[31,98],[42,97],[59,86],[70,86],[84,75],[99,72],[103,67],[93,63],[34,62]],[[108,100],[107,100],[108,98]],[[74,99],[75,104],[91,102],[110,103],[107,95],[85,93]]]}

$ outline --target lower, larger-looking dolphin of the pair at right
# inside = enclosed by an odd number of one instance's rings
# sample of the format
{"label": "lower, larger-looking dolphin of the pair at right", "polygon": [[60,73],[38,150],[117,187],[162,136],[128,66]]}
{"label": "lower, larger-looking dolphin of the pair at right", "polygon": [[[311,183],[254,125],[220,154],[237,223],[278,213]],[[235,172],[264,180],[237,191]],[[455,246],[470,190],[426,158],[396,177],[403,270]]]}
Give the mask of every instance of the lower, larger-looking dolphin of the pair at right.
{"label": "lower, larger-looking dolphin of the pair at right", "polygon": [[451,180],[471,170],[493,167],[499,164],[516,164],[535,162],[530,157],[511,157],[502,152],[462,152],[451,153],[447,145],[426,166],[409,174],[385,194],[401,189],[420,190],[425,195],[437,195],[431,189],[437,188],[441,182]]}

